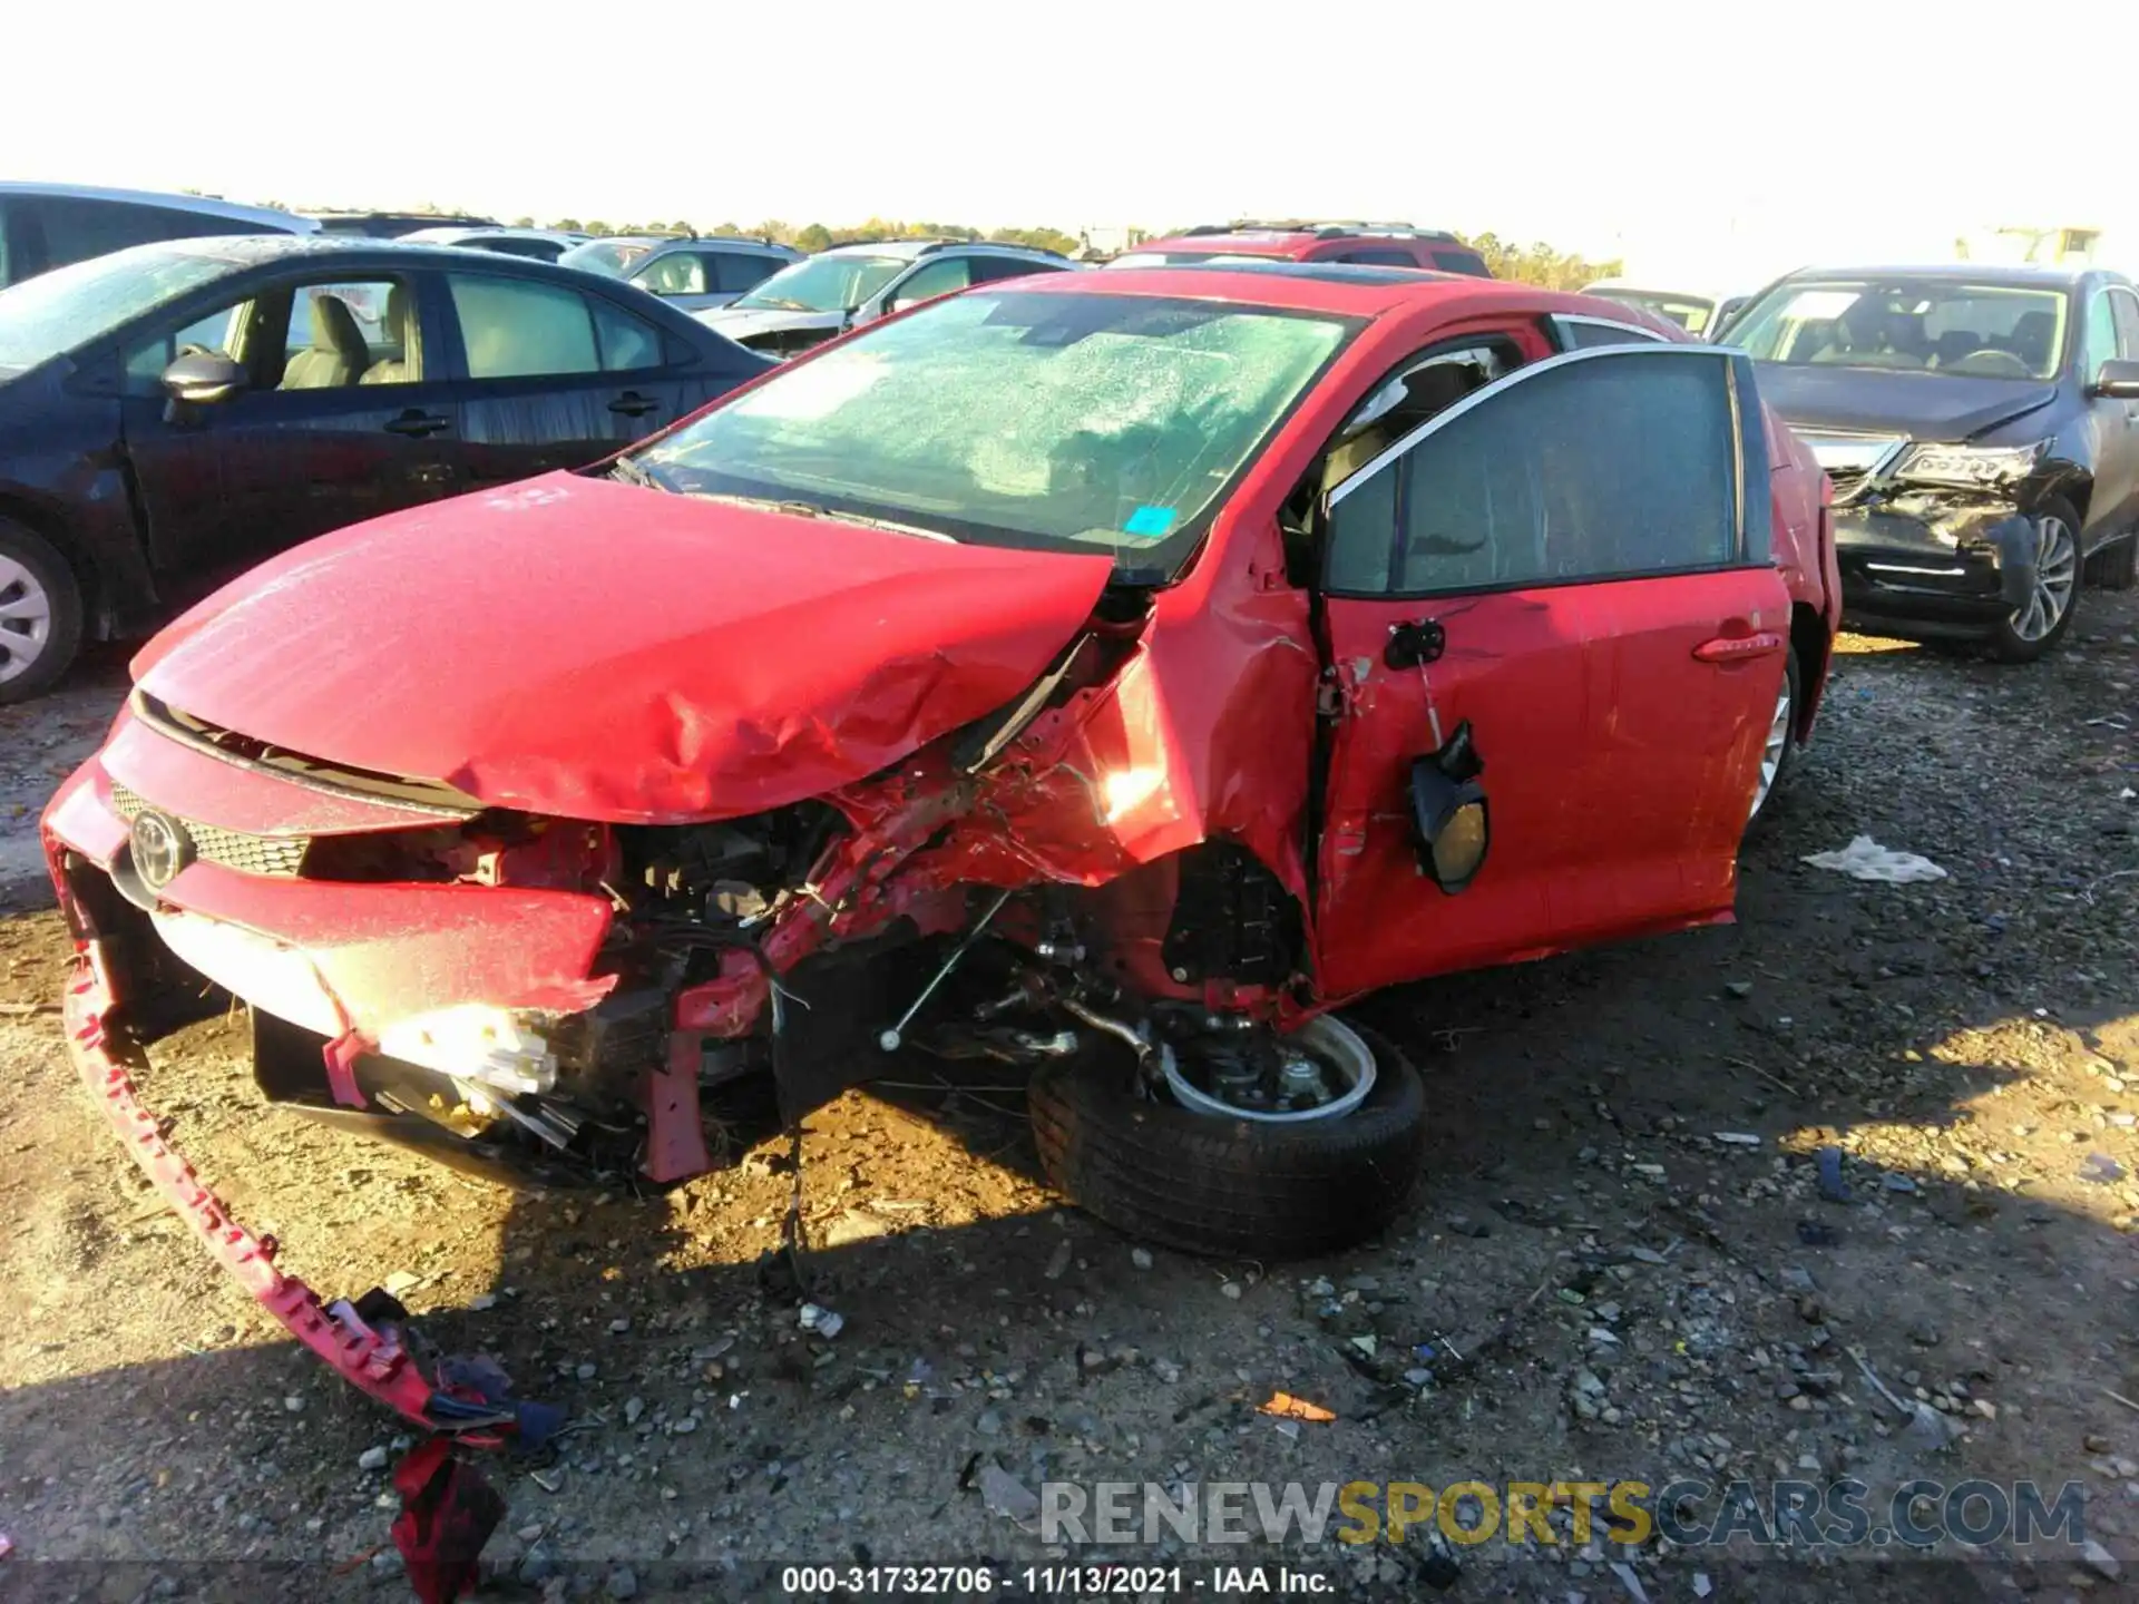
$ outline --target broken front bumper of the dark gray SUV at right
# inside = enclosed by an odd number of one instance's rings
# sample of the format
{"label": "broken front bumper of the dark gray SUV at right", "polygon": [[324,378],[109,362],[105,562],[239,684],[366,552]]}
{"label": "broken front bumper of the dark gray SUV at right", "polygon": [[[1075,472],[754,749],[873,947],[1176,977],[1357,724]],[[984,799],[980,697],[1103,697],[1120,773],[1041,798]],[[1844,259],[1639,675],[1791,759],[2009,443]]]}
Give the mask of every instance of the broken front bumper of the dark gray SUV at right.
{"label": "broken front bumper of the dark gray SUV at right", "polygon": [[2034,590],[2034,522],[2011,509],[1835,509],[1842,622],[1902,637],[1991,635]]}

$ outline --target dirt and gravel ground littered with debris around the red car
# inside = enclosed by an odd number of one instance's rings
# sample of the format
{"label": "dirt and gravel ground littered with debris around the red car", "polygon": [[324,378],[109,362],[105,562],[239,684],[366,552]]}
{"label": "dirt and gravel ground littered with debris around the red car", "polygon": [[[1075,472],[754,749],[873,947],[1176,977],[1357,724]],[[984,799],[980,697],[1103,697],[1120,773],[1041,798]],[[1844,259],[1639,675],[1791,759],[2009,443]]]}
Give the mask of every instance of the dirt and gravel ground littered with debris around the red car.
{"label": "dirt and gravel ground littered with debris around the red car", "polygon": [[[1217,1591],[1217,1557],[1412,1598],[1452,1557],[1452,1598],[1553,1604],[2122,1598],[2139,597],[2088,592],[2036,667],[1844,646],[1737,926],[1363,1009],[1427,1074],[1431,1168],[1399,1230],[1337,1260],[1136,1249],[1033,1178],[1016,1089],[922,1071],[809,1121],[809,1296],[845,1317],[824,1341],[774,1253],[789,1176],[764,1121],[738,1116],[736,1163],[670,1196],[511,1196],[267,1114],[237,1020],[158,1044],[145,1093],[287,1268],[327,1296],[413,1279],[441,1352],[492,1354],[569,1409],[554,1452],[488,1465],[509,1514],[486,1598],[761,1598],[800,1561],[1010,1574],[1050,1553],[1194,1561],[1189,1591]],[[210,1266],[86,1106],[45,1007],[66,945],[24,843],[120,684],[0,710],[0,1598],[406,1595],[372,1469],[396,1422]],[[1949,877],[1803,862],[1857,834]],[[1818,1196],[1827,1144],[1850,1202]],[[1859,1356],[1944,1424],[1906,1424]],[[1258,1414],[1273,1390],[1335,1420]],[[1097,1555],[990,1512],[999,1474],[2077,1480],[2100,1551]]]}

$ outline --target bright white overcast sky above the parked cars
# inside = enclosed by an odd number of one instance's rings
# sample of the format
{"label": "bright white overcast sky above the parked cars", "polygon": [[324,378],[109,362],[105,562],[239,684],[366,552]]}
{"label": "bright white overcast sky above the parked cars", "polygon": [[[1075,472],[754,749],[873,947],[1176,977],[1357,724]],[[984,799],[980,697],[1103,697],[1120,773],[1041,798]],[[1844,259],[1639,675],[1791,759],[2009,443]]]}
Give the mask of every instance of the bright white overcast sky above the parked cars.
{"label": "bright white overcast sky above the parked cars", "polygon": [[699,227],[1403,218],[1726,291],[2079,225],[2111,255],[2133,240],[2111,265],[2139,269],[2130,0],[118,0],[94,34],[83,15],[11,15],[0,175]]}

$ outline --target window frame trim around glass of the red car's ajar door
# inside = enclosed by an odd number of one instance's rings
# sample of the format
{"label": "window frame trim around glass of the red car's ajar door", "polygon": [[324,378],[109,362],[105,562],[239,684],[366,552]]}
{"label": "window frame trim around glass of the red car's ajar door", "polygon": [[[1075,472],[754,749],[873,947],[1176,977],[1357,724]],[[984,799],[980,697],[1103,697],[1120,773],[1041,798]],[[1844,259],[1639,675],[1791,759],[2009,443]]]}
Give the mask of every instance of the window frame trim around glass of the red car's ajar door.
{"label": "window frame trim around glass of the red car's ajar door", "polygon": [[[1551,317],[1557,321],[1561,314],[1555,312]],[[1570,321],[1572,321],[1572,314],[1570,314]],[[1581,321],[1611,325],[1611,319],[1583,317]],[[1634,334],[1641,334],[1643,342],[1638,342],[1638,344],[1626,342],[1626,344],[1583,346],[1583,349],[1576,349],[1576,351],[1561,351],[1561,353],[1544,357],[1540,361],[1523,364],[1514,372],[1506,372],[1499,379],[1495,379],[1491,385],[1480,385],[1469,396],[1463,396],[1461,400],[1457,400],[1450,406],[1442,408],[1440,413],[1435,413],[1433,417],[1429,417],[1425,423],[1420,423],[1418,428],[1414,428],[1410,434],[1405,434],[1403,438],[1395,441],[1386,451],[1382,451],[1378,458],[1373,458],[1367,466],[1363,466],[1358,473],[1354,473],[1350,479],[1345,479],[1333,492],[1328,492],[1328,496],[1324,496],[1324,503],[1322,503],[1322,558],[1315,565],[1318,567],[1315,590],[1320,595],[1333,599],[1333,601],[1429,601],[1429,599],[1442,599],[1442,597],[1506,595],[1506,592],[1512,592],[1512,590],[1564,590],[1566,586],[1576,586],[1576,584],[1624,584],[1624,582],[1632,582],[1632,580],[1677,580],[1677,577],[1688,577],[1688,575],[1698,575],[1698,573],[1735,573],[1739,569],[1773,569],[1775,567],[1775,558],[1773,558],[1773,533],[1769,533],[1769,552],[1765,556],[1754,556],[1748,550],[1748,524],[1750,524],[1750,518],[1748,518],[1748,494],[1750,492],[1748,492],[1748,483],[1745,481],[1748,481],[1748,471],[1752,468],[1752,464],[1748,462],[1748,456],[1745,456],[1748,400],[1752,402],[1754,408],[1760,406],[1760,400],[1758,400],[1758,394],[1752,394],[1748,398],[1748,394],[1741,389],[1741,385],[1745,381],[1745,374],[1752,368],[1752,359],[1743,351],[1739,351],[1735,346],[1694,344],[1694,342],[1668,340],[1668,338],[1656,334],[1653,329],[1638,329],[1634,325],[1613,325],[1613,327],[1628,327]],[[1675,359],[1709,359],[1709,361],[1722,361],[1724,364],[1724,398],[1726,398],[1726,402],[1730,406],[1730,473],[1733,473],[1733,524],[1735,524],[1735,528],[1733,528],[1733,545],[1737,547],[1737,556],[1733,560],[1726,560],[1726,562],[1696,562],[1696,565],[1668,567],[1668,569],[1630,569],[1630,571],[1624,571],[1624,573],[1538,575],[1538,577],[1532,577],[1532,580],[1514,580],[1514,582],[1504,582],[1504,584],[1433,586],[1433,588],[1422,588],[1422,590],[1399,590],[1395,586],[1382,588],[1382,590],[1350,590],[1350,588],[1341,588],[1341,586],[1330,584],[1330,562],[1333,562],[1335,552],[1337,552],[1337,541],[1333,539],[1330,520],[1333,520],[1337,507],[1354,490],[1358,490],[1367,481],[1375,479],[1386,468],[1401,466],[1403,458],[1410,456],[1427,436],[1440,432],[1448,423],[1455,423],[1459,417],[1472,413],[1474,408],[1482,406],[1484,402],[1497,400],[1499,396],[1506,396],[1514,385],[1527,383],[1529,379],[1536,379],[1538,374],[1559,372],[1564,368],[1570,368],[1570,366],[1583,364],[1583,361],[1602,361],[1602,359],[1628,357],[1628,355],[1634,355],[1634,357],[1653,357],[1653,355],[1660,355],[1660,353],[1668,355],[1668,357],[1675,357]],[[1769,468],[1773,464],[1769,464]],[[1763,477],[1760,490],[1765,492],[1767,490],[1767,485],[1765,485],[1767,475],[1763,473],[1760,477]],[[1397,509],[1399,509],[1397,515],[1401,518],[1403,515],[1401,513],[1401,509],[1403,509],[1403,498],[1401,496],[1397,498]]]}

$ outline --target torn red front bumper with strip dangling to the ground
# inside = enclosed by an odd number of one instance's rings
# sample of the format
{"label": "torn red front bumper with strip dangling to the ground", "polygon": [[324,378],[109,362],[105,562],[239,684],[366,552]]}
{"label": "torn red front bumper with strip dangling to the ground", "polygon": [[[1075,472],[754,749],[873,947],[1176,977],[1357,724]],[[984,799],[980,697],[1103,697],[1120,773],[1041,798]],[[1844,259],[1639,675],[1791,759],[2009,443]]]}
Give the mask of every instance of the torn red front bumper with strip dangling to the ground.
{"label": "torn red front bumper with strip dangling to the ground", "polygon": [[276,1268],[272,1236],[248,1232],[201,1185],[141,1106],[135,1078],[145,1054],[135,1020],[173,975],[193,990],[214,980],[270,1012],[299,1020],[323,1014],[336,1039],[319,1069],[334,1082],[336,1050],[347,1065],[391,1009],[449,1005],[483,997],[486,986],[509,1001],[550,1005],[599,997],[601,986],[584,975],[607,928],[605,907],[560,892],[481,900],[488,888],[276,879],[207,860],[145,894],[128,838],[103,757],[77,770],[45,811],[45,858],[77,952],[64,994],[66,1046],[92,1101],[222,1268],[338,1375],[430,1431],[479,1446],[501,1441],[513,1431],[513,1412],[460,1386],[441,1390],[404,1347],[389,1300],[387,1317],[368,1298],[323,1305]]}

